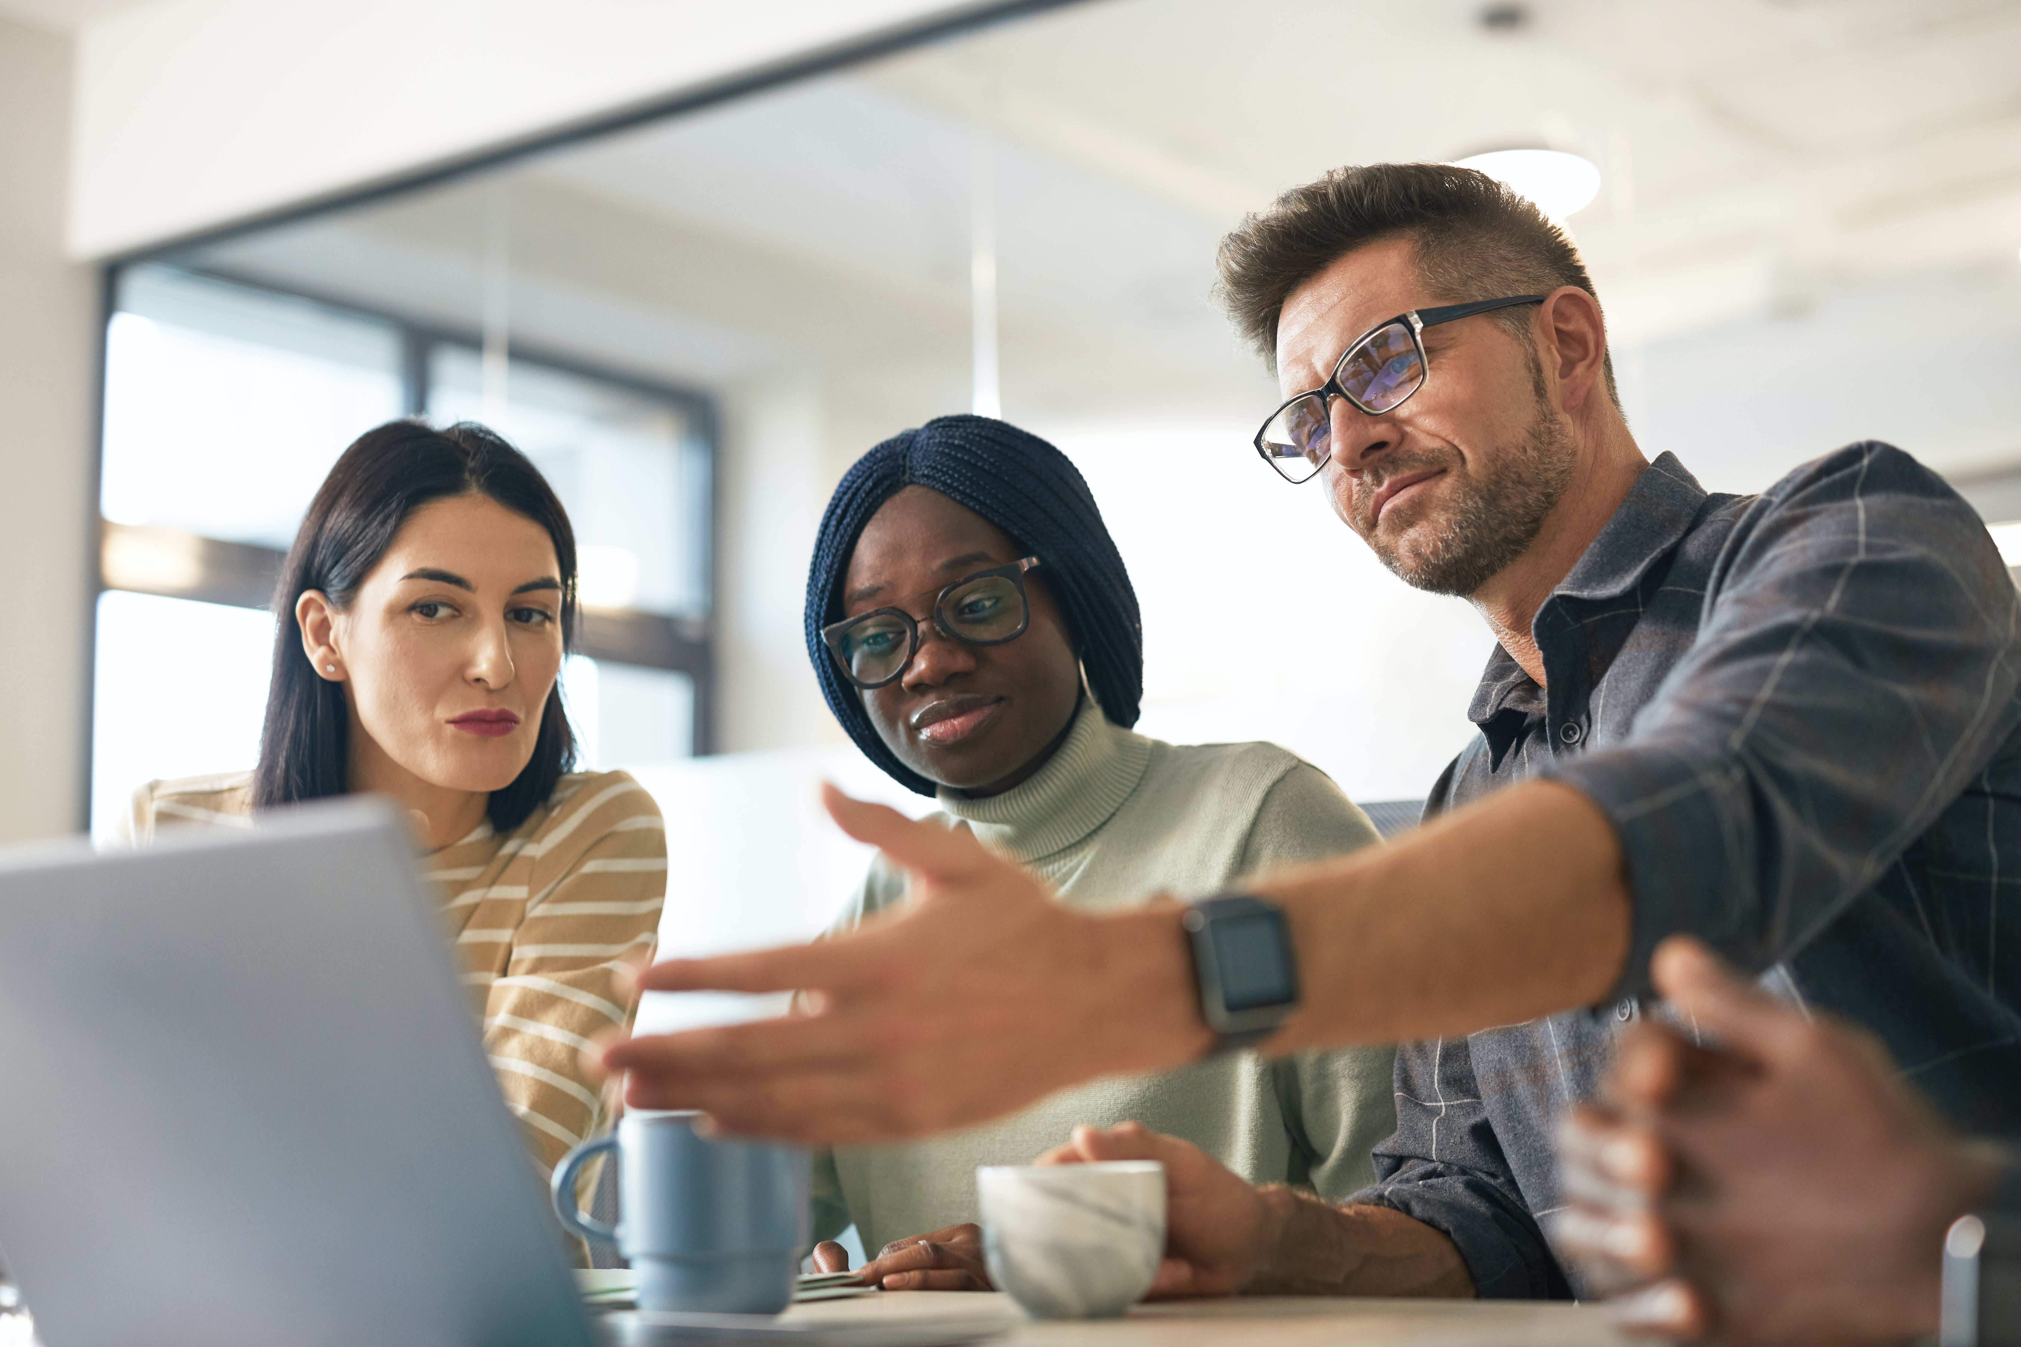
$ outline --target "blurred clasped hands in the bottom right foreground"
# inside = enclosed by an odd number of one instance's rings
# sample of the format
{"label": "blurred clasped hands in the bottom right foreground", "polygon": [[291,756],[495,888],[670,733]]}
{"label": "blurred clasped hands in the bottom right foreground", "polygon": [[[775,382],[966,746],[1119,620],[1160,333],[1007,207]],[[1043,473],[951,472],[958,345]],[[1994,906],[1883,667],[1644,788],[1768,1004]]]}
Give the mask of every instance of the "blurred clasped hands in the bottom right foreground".
{"label": "blurred clasped hands in the bottom right foreground", "polygon": [[1659,945],[1651,977],[1718,1046],[1633,1026],[1605,1103],[1558,1137],[1552,1232],[1617,1323],[1762,1345],[1934,1333],[1944,1230],[1995,1165],[1873,1038],[1807,1020],[1698,941]]}

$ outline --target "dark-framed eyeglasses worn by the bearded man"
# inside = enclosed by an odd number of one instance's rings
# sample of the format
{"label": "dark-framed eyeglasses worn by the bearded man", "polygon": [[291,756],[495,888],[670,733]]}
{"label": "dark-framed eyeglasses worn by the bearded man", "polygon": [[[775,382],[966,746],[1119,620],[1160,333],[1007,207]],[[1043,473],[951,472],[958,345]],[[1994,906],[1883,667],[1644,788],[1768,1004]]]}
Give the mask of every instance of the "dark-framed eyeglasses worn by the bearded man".
{"label": "dark-framed eyeglasses worn by the bearded man", "polygon": [[1354,410],[1366,416],[1394,412],[1425,386],[1425,378],[1431,374],[1431,357],[1425,355],[1423,337],[1427,327],[1491,309],[1536,305],[1546,299],[1550,297],[1479,299],[1471,305],[1413,309],[1376,323],[1348,345],[1324,384],[1269,414],[1269,420],[1257,430],[1257,452],[1287,483],[1312,481],[1334,456],[1334,398],[1346,398]]}

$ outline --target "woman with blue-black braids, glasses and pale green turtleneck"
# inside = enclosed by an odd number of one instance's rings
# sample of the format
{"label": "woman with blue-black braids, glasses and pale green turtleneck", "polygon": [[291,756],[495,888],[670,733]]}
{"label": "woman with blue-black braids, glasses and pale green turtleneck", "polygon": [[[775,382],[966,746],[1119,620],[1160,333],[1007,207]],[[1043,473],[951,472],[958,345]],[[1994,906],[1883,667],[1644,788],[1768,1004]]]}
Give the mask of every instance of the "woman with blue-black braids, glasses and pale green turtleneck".
{"label": "woman with blue-black braids, glasses and pale green turtleneck", "polygon": [[[1205,897],[1376,840],[1281,747],[1130,733],[1144,691],[1130,574],[1067,456],[1000,420],[942,416],[843,477],[814,543],[806,648],[871,761],[1063,903]],[[903,887],[875,860],[845,925]],[[1394,1129],[1390,1050],[1229,1054],[932,1141],[843,1147],[814,1169],[816,1236],[855,1222],[865,1248],[883,1246],[859,1274],[887,1288],[986,1288],[976,1165],[1031,1163],[1077,1123],[1124,1121],[1186,1137],[1251,1183],[1342,1198],[1372,1181],[1370,1149]],[[847,1266],[833,1242],[814,1256]]]}

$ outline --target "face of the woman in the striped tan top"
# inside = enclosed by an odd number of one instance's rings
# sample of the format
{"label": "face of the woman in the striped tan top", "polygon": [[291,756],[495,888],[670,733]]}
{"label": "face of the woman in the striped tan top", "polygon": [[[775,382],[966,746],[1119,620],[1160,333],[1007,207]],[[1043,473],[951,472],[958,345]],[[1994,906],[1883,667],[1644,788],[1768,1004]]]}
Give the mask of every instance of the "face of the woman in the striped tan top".
{"label": "face of the woman in the striped tan top", "polygon": [[[315,614],[297,614],[313,640]],[[321,626],[329,652],[311,658],[346,687],[354,788],[404,773],[493,792],[534,757],[562,672],[562,569],[525,515],[481,495],[422,505]]]}

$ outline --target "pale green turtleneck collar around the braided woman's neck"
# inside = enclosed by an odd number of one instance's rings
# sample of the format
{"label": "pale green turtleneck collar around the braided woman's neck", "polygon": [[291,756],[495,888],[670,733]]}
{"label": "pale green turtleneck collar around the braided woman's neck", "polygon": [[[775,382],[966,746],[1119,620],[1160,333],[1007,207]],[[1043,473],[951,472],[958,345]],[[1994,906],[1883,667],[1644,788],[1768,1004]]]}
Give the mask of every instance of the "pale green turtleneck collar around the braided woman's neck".
{"label": "pale green turtleneck collar around the braided woman's neck", "polygon": [[974,800],[948,788],[940,808],[964,820],[992,850],[1017,860],[1043,860],[1110,822],[1144,780],[1152,741],[1112,725],[1083,699],[1067,741],[1029,780],[1000,796]]}

